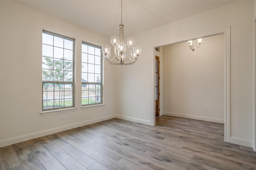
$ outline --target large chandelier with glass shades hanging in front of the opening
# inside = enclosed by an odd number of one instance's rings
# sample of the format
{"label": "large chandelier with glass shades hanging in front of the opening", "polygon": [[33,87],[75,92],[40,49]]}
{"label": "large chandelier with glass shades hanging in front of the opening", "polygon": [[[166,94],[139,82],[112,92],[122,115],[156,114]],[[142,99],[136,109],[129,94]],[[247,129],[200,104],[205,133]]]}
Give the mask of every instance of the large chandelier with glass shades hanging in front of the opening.
{"label": "large chandelier with glass shades hanging in front of the opening", "polygon": [[[134,39],[128,38],[124,43],[124,25],[122,23],[122,7],[121,0],[121,23],[119,25],[119,37],[110,37],[110,42],[114,46],[115,54],[111,57],[111,47],[108,45],[102,46],[102,53],[109,64],[113,65],[132,65],[141,53],[140,47],[133,47]],[[126,45],[127,44],[127,45]]]}

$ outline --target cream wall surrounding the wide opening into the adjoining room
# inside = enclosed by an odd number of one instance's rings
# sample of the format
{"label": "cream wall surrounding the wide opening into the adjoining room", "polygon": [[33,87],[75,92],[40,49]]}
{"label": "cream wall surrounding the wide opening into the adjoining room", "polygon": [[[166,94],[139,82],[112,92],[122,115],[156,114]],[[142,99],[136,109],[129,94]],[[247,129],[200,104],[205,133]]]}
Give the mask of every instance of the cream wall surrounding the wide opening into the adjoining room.
{"label": "cream wall surrounding the wide opening into the adjoining room", "polygon": [[[133,35],[142,47],[138,61],[118,68],[119,117],[154,124],[154,47],[179,42],[225,27],[231,27],[231,142],[252,147],[253,118],[253,10],[254,1],[236,1],[161,27]],[[123,77],[121,75],[124,75]],[[134,86],[130,81],[134,80]],[[125,112],[122,107],[129,108]]]}

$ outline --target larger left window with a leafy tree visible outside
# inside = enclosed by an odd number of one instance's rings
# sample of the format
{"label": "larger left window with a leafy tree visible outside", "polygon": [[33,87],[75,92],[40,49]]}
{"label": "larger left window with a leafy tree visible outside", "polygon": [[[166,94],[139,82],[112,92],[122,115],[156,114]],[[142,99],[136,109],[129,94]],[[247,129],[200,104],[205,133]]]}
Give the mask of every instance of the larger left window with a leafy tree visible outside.
{"label": "larger left window with a leafy tree visible outside", "polygon": [[74,39],[42,33],[42,109],[74,107]]}

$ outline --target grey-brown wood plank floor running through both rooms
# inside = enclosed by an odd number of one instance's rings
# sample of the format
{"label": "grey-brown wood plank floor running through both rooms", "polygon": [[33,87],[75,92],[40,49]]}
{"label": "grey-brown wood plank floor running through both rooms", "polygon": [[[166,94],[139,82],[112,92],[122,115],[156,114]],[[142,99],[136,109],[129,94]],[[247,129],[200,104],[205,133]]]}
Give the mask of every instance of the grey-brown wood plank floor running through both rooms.
{"label": "grey-brown wood plank floor running through both rooms", "polygon": [[256,152],[224,142],[224,124],[162,115],[122,119],[0,149],[0,170],[255,170]]}

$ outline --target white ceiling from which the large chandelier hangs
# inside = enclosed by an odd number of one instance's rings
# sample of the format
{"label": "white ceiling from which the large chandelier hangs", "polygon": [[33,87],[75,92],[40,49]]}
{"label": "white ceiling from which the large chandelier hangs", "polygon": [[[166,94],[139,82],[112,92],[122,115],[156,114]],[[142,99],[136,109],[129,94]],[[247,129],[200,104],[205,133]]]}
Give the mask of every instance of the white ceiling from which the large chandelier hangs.
{"label": "white ceiling from which the large chandelier hangs", "polygon": [[[14,0],[107,37],[119,36],[121,0]],[[124,36],[199,14],[236,0],[123,0]],[[211,18],[209,18],[211,20]]]}

